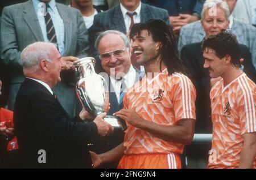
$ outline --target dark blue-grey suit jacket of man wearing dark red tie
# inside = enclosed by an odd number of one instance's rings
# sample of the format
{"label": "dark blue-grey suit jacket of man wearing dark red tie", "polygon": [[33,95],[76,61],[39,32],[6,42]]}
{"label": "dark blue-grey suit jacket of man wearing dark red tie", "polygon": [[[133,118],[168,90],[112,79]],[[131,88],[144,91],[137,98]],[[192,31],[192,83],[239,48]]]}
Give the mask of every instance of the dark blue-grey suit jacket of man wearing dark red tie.
{"label": "dark blue-grey suit jacket of man wearing dark red tie", "polygon": [[[141,5],[141,22],[150,19],[162,19],[170,24],[168,11],[162,8],[153,7],[142,3]],[[115,6],[108,11],[101,12],[94,16],[93,25],[88,29],[91,54],[96,55],[94,49],[97,34],[107,30],[117,30],[126,34],[125,20],[123,19],[121,7]]]}

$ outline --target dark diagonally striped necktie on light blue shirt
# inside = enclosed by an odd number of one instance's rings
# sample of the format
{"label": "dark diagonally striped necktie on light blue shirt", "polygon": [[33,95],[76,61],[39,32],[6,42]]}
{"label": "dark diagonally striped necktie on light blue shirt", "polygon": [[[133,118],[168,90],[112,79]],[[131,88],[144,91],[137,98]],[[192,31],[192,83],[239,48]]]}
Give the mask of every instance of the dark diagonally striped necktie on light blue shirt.
{"label": "dark diagonally striped necktie on light blue shirt", "polygon": [[49,42],[57,44],[55,28],[52,23],[51,15],[49,14],[47,8],[50,8],[48,3],[46,3],[46,15],[44,16],[44,21],[46,22],[47,38]]}

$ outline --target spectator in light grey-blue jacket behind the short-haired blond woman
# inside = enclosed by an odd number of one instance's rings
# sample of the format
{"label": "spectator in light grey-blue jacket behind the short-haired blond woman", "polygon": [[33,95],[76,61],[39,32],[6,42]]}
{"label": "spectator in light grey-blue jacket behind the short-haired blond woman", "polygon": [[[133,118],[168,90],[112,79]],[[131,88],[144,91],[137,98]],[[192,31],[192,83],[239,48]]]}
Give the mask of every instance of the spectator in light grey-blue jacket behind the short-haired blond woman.
{"label": "spectator in light grey-blue jacket behind the short-haired blond woman", "polygon": [[[210,3],[220,3],[222,0],[207,0],[204,3],[202,14],[204,13],[204,8]],[[233,12],[236,6],[236,0],[224,0],[228,2],[230,13]],[[203,17],[202,17],[203,18]],[[238,20],[233,19],[233,16],[229,16],[229,28],[237,36],[237,40],[240,44],[246,45],[250,49],[251,59],[253,61],[254,67],[256,67],[256,28],[252,25],[245,24]],[[219,22],[221,23],[221,22]],[[180,37],[178,42],[179,52],[186,44],[191,44],[193,42],[201,42],[205,37],[204,29],[200,21],[193,22],[191,24],[185,25],[181,28]]]}

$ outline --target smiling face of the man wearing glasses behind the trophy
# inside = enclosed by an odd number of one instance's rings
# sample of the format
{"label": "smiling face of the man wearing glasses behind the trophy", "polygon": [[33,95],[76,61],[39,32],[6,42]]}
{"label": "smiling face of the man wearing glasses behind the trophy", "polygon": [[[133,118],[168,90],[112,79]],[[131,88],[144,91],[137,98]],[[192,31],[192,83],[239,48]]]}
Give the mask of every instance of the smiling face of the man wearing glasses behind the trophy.
{"label": "smiling face of the man wearing glasses behind the trophy", "polygon": [[[98,52],[100,54],[113,52],[123,48],[125,48],[125,42],[119,35],[113,33],[109,33],[102,37],[98,44]],[[101,58],[101,65],[109,75],[111,69],[112,71],[114,70],[115,75],[118,73],[127,74],[131,66],[131,55],[129,53],[129,49],[125,48],[123,53],[119,54],[118,57],[112,54],[109,59]]]}

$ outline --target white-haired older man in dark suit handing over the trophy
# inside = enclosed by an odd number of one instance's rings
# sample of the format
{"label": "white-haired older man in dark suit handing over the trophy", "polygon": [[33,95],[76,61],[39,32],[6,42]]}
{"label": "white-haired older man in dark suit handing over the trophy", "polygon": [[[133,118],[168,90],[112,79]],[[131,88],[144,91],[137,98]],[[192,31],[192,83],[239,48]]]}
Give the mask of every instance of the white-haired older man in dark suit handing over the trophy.
{"label": "white-haired older man in dark suit handing over the trophy", "polygon": [[113,127],[99,114],[85,123],[88,112],[71,118],[52,88],[60,82],[63,67],[55,45],[35,42],[21,53],[26,79],[14,105],[14,126],[22,168],[92,168],[86,144],[109,135]]}

